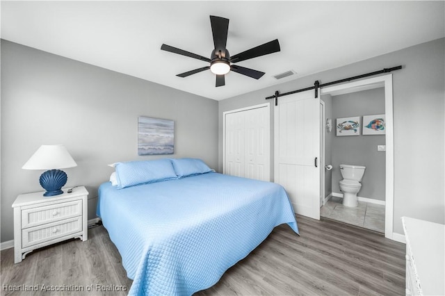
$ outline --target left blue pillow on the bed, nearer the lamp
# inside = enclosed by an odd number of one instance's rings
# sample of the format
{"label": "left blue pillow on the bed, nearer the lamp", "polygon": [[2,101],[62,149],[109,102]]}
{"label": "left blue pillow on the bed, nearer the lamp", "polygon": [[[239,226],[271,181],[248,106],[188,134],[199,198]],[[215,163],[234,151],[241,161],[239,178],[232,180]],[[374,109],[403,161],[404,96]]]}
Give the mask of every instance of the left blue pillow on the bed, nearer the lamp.
{"label": "left blue pillow on the bed, nearer the lamp", "polygon": [[129,161],[116,163],[116,179],[118,188],[126,188],[144,183],[178,179],[172,162],[168,158],[156,161]]}

